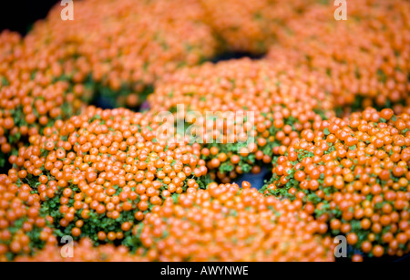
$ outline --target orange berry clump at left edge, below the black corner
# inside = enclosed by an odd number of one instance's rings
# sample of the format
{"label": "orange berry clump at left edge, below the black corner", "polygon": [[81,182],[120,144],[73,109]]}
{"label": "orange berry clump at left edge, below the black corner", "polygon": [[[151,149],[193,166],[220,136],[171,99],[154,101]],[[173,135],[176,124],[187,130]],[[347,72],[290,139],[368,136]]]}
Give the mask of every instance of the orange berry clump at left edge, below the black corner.
{"label": "orange berry clump at left edge, below the black corner", "polygon": [[2,158],[54,120],[77,113],[90,95],[82,84],[64,78],[71,65],[68,47],[36,44],[34,35],[24,39],[7,31],[0,35]]}

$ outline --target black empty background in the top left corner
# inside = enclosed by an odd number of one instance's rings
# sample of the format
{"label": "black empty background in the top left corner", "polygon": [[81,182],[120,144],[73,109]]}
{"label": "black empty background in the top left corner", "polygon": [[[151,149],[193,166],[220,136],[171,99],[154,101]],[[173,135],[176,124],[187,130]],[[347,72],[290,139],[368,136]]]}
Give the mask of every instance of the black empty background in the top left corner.
{"label": "black empty background in the top left corner", "polygon": [[3,0],[0,2],[0,31],[4,29],[26,35],[36,20],[45,18],[58,0]]}

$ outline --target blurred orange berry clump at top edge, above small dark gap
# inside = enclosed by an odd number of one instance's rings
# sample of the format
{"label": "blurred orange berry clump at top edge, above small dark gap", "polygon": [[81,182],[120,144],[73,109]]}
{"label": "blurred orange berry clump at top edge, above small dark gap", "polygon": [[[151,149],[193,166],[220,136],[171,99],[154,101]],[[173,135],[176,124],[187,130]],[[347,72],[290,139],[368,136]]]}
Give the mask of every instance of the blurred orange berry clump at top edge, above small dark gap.
{"label": "blurred orange berry clump at top edge, above small dark gap", "polygon": [[302,16],[317,0],[200,0],[205,23],[229,51],[254,55],[277,43],[277,33],[288,29],[288,22]]}

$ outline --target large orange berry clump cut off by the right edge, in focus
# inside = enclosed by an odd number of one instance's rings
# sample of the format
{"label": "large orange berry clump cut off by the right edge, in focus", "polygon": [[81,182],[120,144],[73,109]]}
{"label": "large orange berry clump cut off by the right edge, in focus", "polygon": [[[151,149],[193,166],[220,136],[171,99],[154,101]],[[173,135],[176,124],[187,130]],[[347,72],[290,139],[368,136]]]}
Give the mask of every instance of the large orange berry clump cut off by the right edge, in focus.
{"label": "large orange berry clump cut off by the right edge, in focus", "polygon": [[369,108],[301,136],[262,192],[292,199],[365,254],[410,252],[410,115]]}

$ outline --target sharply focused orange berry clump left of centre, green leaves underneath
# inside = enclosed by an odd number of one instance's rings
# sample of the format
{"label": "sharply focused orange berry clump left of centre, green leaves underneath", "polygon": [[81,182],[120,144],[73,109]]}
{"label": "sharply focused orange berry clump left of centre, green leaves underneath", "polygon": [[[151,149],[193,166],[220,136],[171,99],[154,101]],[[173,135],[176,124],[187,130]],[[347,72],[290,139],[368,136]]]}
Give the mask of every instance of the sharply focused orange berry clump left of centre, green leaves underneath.
{"label": "sharply focused orange berry clump left of centre, green leaves underneath", "polygon": [[32,136],[10,157],[9,174],[32,186],[61,234],[122,241],[167,197],[203,187],[207,174],[198,144],[161,142],[156,125],[128,109],[89,107]]}

